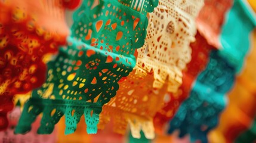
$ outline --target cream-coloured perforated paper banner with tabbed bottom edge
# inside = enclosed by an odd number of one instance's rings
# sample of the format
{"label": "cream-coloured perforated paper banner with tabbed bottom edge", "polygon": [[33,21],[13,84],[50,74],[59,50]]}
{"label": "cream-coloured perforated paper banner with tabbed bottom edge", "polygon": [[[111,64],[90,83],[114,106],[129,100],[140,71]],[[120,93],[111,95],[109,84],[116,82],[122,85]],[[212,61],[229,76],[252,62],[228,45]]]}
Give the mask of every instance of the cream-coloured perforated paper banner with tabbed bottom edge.
{"label": "cream-coloured perforated paper banner with tabbed bottom edge", "polygon": [[138,50],[137,74],[154,71],[154,88],[162,88],[168,79],[168,91],[176,92],[182,73],[191,60],[190,42],[195,41],[195,17],[203,5],[201,0],[162,0],[149,14],[146,43]]}

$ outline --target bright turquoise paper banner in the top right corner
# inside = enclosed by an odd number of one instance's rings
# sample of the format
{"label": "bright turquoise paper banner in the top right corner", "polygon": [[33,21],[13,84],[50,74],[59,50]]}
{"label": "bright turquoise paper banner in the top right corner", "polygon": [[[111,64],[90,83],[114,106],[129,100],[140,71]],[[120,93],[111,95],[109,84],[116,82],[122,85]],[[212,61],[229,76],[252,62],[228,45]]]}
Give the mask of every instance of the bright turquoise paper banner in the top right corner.
{"label": "bright turquoise paper banner in the top right corner", "polygon": [[236,68],[236,72],[242,69],[249,51],[249,35],[256,26],[256,16],[245,2],[234,1],[233,7],[226,15],[227,19],[220,35],[220,54]]}

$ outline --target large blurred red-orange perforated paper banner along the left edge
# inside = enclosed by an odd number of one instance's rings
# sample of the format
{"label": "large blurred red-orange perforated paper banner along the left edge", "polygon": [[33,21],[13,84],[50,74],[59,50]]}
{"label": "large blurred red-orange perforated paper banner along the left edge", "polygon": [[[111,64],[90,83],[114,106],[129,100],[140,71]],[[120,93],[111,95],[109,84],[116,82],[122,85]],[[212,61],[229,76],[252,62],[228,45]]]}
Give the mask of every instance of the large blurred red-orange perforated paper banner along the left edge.
{"label": "large blurred red-orange perforated paper banner along the left edge", "polygon": [[0,120],[6,120],[0,129],[5,129],[13,95],[44,83],[42,58],[66,43],[69,29],[62,0],[1,0],[0,7]]}

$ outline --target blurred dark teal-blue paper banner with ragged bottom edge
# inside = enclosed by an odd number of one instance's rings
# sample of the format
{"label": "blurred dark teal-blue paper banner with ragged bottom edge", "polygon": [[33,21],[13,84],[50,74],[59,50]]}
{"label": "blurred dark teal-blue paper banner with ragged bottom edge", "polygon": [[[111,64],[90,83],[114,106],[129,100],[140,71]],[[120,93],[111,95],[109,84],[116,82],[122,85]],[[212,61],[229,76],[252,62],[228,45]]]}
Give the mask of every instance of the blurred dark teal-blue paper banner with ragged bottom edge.
{"label": "blurred dark teal-blue paper banner with ragged bottom edge", "polygon": [[206,134],[218,123],[218,116],[226,105],[225,94],[232,88],[235,69],[212,51],[209,63],[170,122],[169,133],[180,129],[180,136],[190,134],[192,141],[206,142]]}

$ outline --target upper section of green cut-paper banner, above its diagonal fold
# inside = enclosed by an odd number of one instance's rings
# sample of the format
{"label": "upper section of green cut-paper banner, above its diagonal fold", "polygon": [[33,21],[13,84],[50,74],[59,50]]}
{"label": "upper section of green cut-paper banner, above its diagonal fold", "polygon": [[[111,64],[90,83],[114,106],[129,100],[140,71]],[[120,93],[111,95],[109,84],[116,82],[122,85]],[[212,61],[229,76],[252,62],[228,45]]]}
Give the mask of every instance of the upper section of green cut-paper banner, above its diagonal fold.
{"label": "upper section of green cut-paper banner, above its diagonal fold", "polygon": [[[75,11],[72,36],[95,48],[131,57],[134,48],[144,44],[148,23],[146,15],[116,1],[113,4],[99,1],[97,6],[95,2],[85,1]],[[85,18],[89,13],[92,13],[91,18]]]}

